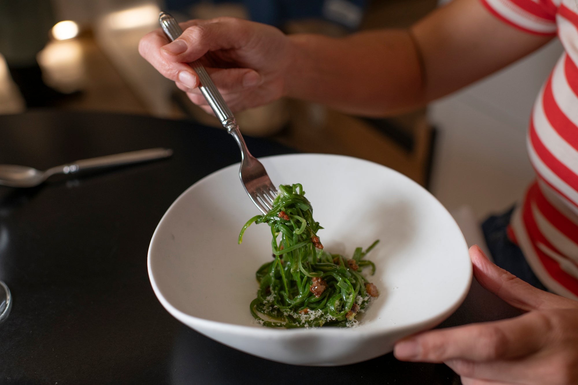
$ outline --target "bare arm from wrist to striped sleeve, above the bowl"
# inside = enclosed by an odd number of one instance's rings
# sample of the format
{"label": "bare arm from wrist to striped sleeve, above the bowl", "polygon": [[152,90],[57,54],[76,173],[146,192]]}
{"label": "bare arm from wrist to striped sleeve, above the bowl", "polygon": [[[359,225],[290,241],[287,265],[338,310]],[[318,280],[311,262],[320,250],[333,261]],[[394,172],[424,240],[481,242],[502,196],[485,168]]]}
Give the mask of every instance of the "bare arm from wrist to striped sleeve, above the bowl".
{"label": "bare arm from wrist to striped sleeve, above the bowl", "polygon": [[409,30],[345,39],[290,36],[295,64],[287,71],[286,95],[385,116],[458,90],[550,39],[503,23],[479,0],[454,0]]}

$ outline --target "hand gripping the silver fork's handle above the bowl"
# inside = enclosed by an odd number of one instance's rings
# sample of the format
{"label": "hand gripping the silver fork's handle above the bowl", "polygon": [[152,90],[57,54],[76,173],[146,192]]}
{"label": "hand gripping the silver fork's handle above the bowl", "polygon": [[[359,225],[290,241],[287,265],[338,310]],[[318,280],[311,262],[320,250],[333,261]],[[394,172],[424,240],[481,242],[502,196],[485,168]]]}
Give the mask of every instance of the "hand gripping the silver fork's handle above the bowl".
{"label": "hand gripping the silver fork's handle above the bowl", "polygon": [[289,39],[279,29],[231,17],[191,20],[180,26],[183,34],[170,44],[160,28],[150,32],[140,40],[139,52],[193,103],[210,112],[197,88],[198,76],[187,64],[203,56],[203,65],[233,111],[284,95],[284,76],[293,55]]}

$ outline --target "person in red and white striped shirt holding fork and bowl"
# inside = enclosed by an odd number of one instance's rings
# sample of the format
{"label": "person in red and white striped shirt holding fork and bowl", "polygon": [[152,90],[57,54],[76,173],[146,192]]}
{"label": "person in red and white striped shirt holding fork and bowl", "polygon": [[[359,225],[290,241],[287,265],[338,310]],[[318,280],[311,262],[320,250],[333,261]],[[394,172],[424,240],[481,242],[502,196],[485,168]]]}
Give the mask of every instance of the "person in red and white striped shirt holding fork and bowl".
{"label": "person in red and white striped shirt holding fork and bowl", "polygon": [[409,29],[342,39],[287,36],[234,18],[181,26],[175,42],[158,29],[139,50],[207,112],[187,63],[210,53],[218,64],[208,72],[234,111],[291,97],[380,117],[456,91],[558,35],[565,53],[528,132],[538,177],[514,210],[483,225],[497,265],[470,248],[481,285],[525,313],[423,332],[398,342],[394,354],[445,362],[464,384],[578,383],[578,1],[454,0]]}

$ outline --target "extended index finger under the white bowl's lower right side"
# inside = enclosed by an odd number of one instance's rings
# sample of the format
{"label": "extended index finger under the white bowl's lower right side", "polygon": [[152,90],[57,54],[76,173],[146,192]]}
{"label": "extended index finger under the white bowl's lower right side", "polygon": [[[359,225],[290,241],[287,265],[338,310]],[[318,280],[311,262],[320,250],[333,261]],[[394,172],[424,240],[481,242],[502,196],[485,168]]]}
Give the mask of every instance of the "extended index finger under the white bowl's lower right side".
{"label": "extended index finger under the white bowl's lower right side", "polygon": [[513,319],[433,330],[398,342],[399,360],[443,362],[492,361],[527,356],[548,338],[549,321],[539,312]]}

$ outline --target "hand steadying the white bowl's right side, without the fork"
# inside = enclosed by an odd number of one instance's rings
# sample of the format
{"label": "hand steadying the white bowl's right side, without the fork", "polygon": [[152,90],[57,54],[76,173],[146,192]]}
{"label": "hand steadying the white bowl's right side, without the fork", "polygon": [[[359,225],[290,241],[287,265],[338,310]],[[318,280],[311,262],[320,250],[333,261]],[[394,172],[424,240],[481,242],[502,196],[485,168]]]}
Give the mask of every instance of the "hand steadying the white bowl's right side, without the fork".
{"label": "hand steadying the white bowl's right side, without the fork", "polygon": [[470,257],[483,287],[527,313],[414,335],[395,345],[395,357],[444,362],[464,385],[578,384],[578,302],[514,277],[477,246]]}

